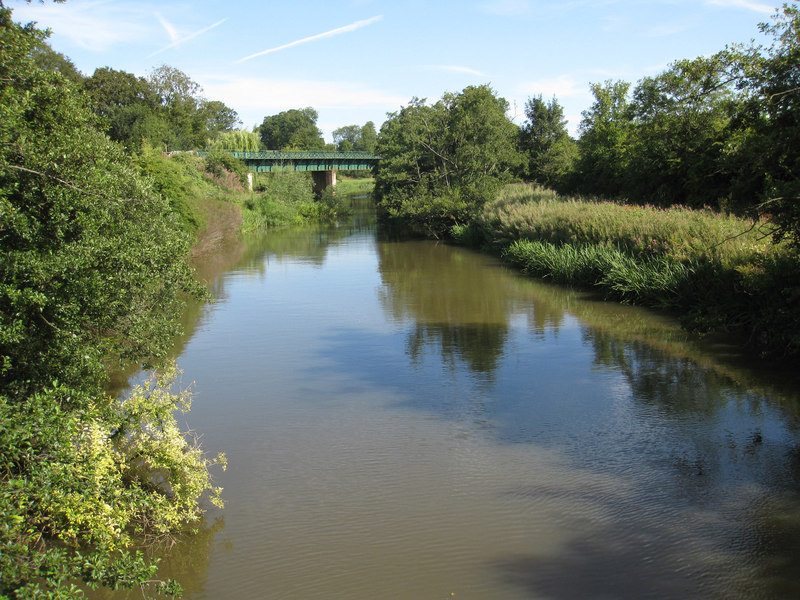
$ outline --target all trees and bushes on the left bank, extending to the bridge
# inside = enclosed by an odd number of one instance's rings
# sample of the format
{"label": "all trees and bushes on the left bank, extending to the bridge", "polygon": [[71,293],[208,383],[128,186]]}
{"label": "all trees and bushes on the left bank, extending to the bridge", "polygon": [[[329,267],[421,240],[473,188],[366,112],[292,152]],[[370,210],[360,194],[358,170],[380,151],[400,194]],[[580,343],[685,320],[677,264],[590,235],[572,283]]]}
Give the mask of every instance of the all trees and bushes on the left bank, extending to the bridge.
{"label": "all trees and bushes on the left bank, extending to the bridge", "polygon": [[[178,596],[143,550],[220,504],[224,467],[179,428],[191,397],[165,360],[185,300],[205,294],[190,259],[242,222],[341,203],[302,173],[249,191],[219,150],[259,142],[177,69],[84,77],[45,39],[0,2],[0,598]],[[110,397],[121,364],[155,371]]]}

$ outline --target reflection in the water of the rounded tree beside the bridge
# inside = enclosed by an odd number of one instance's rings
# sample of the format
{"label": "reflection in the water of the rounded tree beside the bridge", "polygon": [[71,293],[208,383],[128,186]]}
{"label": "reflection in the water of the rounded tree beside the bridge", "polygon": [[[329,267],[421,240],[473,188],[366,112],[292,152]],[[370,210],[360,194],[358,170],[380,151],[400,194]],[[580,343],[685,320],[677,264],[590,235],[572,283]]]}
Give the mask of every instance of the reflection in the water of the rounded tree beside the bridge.
{"label": "reflection in the water of the rounded tree beside the bridge", "polygon": [[491,374],[508,338],[508,320],[520,300],[517,286],[499,268],[481,268],[486,257],[429,242],[378,245],[384,310],[414,322],[407,342],[417,360],[437,347],[454,369],[462,361]]}

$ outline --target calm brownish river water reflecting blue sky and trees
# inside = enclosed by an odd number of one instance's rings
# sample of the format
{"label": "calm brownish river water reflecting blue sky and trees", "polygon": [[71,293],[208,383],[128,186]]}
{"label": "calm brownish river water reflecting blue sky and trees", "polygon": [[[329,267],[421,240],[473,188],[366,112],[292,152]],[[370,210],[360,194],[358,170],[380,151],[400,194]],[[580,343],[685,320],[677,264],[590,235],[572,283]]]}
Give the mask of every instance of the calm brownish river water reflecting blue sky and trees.
{"label": "calm brownish river water reflecting blue sky and trees", "polygon": [[800,597],[797,379],[356,204],[235,244],[189,320],[229,467],[187,598]]}

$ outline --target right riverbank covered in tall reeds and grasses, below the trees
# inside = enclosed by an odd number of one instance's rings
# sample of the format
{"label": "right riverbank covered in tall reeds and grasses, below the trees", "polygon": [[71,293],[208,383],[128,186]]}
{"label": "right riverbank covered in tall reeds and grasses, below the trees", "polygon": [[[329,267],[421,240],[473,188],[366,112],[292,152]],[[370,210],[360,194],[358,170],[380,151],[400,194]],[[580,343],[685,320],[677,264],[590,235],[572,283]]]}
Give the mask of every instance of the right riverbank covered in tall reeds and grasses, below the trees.
{"label": "right riverbank covered in tall reeds and grasses, below the trees", "polygon": [[530,275],[675,313],[688,329],[740,336],[761,354],[800,355],[797,252],[773,244],[763,224],[515,184],[453,234]]}

